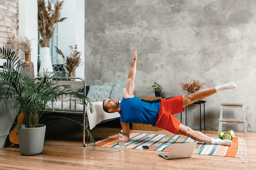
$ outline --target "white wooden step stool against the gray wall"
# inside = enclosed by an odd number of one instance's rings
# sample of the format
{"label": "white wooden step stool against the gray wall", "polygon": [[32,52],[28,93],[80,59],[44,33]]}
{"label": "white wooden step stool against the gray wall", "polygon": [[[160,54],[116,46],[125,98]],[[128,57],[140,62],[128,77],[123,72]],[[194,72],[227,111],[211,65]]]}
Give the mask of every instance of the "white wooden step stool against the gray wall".
{"label": "white wooden step stool against the gray wall", "polygon": [[[223,119],[223,108],[242,108],[242,116],[243,119]],[[246,124],[245,124],[245,110],[243,103],[221,103],[220,104],[220,119],[219,119],[219,130],[218,132],[222,131],[222,124],[243,124],[245,137],[246,137]]]}

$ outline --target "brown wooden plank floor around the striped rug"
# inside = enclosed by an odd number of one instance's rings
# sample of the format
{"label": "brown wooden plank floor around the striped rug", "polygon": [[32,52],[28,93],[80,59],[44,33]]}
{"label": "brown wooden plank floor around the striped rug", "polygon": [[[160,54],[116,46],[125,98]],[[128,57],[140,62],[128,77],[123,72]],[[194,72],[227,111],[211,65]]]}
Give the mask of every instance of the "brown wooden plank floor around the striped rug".
{"label": "brown wooden plank floor around the striped rug", "polygon": [[[118,128],[96,127],[92,130],[95,139],[104,139],[119,133]],[[165,130],[146,132],[168,134]],[[205,131],[217,137],[216,131]],[[157,151],[100,147],[95,150],[83,147],[81,129],[46,137],[43,152],[23,156],[13,146],[0,149],[0,170],[256,170],[256,133],[236,132],[236,137],[245,139],[247,154],[244,159],[194,154],[191,158],[166,160]]]}

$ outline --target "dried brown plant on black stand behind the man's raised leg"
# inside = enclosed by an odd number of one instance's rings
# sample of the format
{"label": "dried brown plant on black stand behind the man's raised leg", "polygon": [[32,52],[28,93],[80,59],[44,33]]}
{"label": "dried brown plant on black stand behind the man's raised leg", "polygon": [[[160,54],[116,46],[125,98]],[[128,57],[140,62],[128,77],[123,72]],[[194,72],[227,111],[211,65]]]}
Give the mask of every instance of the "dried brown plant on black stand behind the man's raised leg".
{"label": "dried brown plant on black stand behind the man's raised leg", "polygon": [[200,82],[198,79],[190,79],[190,82],[180,82],[180,86],[184,93],[194,93],[203,88],[204,82]]}

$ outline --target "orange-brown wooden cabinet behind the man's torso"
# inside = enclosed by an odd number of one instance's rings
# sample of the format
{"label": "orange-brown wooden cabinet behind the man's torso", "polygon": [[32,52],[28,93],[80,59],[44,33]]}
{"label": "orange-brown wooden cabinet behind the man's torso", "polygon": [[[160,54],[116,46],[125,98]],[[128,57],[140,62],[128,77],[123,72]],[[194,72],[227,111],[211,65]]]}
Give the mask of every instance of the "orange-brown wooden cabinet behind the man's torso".
{"label": "orange-brown wooden cabinet behind the man's torso", "polygon": [[[138,96],[141,99],[145,100],[155,100],[155,99],[163,99],[164,97],[154,97],[154,96]],[[134,124],[132,123],[132,129],[135,130],[154,130],[154,131],[159,131],[160,128],[152,126],[150,124]]]}

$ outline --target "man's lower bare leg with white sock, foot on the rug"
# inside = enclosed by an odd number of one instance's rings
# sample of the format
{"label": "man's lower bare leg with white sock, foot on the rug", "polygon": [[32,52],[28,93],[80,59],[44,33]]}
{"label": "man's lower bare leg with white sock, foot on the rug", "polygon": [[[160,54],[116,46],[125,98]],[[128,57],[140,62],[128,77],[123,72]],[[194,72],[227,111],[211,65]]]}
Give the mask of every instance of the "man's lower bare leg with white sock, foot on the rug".
{"label": "man's lower bare leg with white sock, foot on the rug", "polygon": [[231,140],[228,140],[228,139],[222,140],[220,138],[214,139],[207,135],[204,135],[202,132],[192,130],[191,128],[189,128],[188,126],[185,126],[183,124],[180,124],[180,126],[178,128],[178,133],[180,135],[188,136],[191,139],[194,139],[196,141],[201,141],[201,142],[205,142],[208,144],[227,145],[227,146],[232,145]]}

